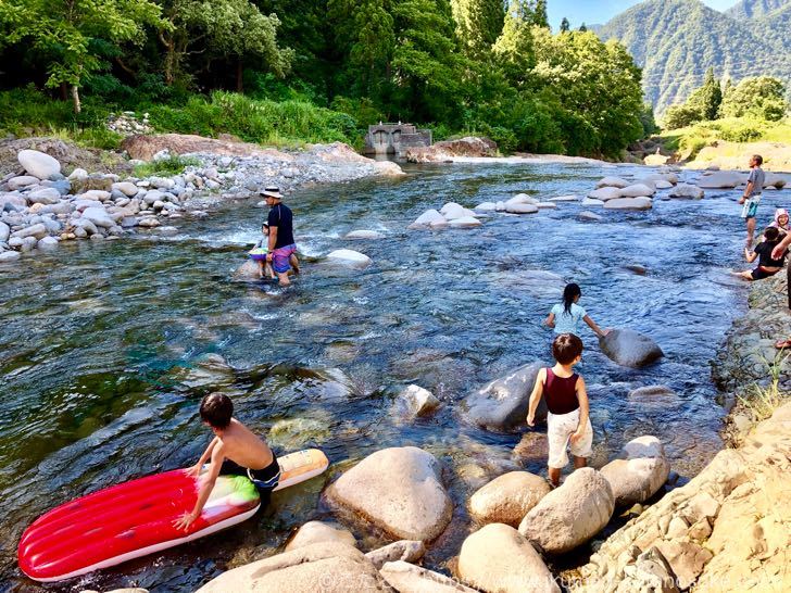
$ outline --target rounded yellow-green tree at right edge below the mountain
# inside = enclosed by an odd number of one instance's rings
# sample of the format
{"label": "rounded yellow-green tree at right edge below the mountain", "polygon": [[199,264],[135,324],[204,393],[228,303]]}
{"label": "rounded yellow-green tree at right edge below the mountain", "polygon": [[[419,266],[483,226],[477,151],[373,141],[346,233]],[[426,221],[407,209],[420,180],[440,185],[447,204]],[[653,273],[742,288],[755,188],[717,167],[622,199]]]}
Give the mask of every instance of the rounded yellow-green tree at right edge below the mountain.
{"label": "rounded yellow-green tree at right edge below the mountain", "polygon": [[723,115],[726,117],[752,116],[777,122],[786,116],[788,103],[786,87],[781,80],[770,76],[742,79],[731,87],[723,99]]}

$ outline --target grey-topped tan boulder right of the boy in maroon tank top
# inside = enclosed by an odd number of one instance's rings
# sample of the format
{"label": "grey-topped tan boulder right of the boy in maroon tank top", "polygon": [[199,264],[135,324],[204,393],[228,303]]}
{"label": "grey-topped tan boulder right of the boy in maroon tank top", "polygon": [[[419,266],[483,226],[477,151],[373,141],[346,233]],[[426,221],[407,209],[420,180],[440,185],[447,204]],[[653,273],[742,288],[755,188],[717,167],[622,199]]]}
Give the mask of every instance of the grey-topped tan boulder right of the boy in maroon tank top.
{"label": "grey-topped tan boulder right of the boy in maroon tank top", "polygon": [[615,504],[631,506],[644,503],[667,481],[670,464],[656,437],[638,437],[629,441],[617,459],[601,469],[613,489]]}

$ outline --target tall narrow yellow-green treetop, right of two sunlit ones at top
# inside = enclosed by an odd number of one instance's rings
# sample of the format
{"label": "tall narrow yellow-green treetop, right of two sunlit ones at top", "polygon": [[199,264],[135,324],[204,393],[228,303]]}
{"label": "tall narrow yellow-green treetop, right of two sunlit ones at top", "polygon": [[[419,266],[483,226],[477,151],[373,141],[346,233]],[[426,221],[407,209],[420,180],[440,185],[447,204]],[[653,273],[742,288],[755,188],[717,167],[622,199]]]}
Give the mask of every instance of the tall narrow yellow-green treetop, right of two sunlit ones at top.
{"label": "tall narrow yellow-green treetop, right of two sunlit ones at top", "polygon": [[492,51],[505,76],[517,87],[524,86],[536,65],[532,45],[531,13],[525,2],[512,0],[505,14],[503,33]]}

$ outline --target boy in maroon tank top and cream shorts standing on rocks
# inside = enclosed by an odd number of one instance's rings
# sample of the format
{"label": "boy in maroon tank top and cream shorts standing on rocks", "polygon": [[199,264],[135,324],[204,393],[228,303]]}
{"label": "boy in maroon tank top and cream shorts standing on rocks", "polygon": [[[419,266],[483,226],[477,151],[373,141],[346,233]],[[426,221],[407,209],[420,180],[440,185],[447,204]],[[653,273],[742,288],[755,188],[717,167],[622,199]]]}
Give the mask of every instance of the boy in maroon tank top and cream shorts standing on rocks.
{"label": "boy in maroon tank top and cream shorts standing on rocks", "polygon": [[582,377],[573,367],[582,358],[582,340],[574,333],[562,333],[552,343],[552,355],[556,364],[542,368],[536,377],[530,394],[527,425],[533,426],[536,409],[541,398],[547,399],[547,437],[550,445],[550,482],[556,487],[561,480],[561,469],[568,465],[566,450],[572,449],[574,467],[588,465],[593,443],[593,428],[589,419],[588,392]]}

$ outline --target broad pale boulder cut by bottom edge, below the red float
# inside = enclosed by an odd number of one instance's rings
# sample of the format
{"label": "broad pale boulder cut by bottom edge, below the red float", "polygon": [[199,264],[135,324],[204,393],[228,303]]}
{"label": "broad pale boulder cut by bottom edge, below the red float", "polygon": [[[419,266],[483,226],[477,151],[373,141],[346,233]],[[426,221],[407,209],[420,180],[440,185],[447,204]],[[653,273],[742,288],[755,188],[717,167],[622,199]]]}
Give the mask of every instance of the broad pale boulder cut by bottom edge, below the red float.
{"label": "broad pale boulder cut by bottom edge, below the red float", "polygon": [[350,589],[394,593],[362,552],[338,542],[325,542],[228,570],[198,592],[348,593]]}

